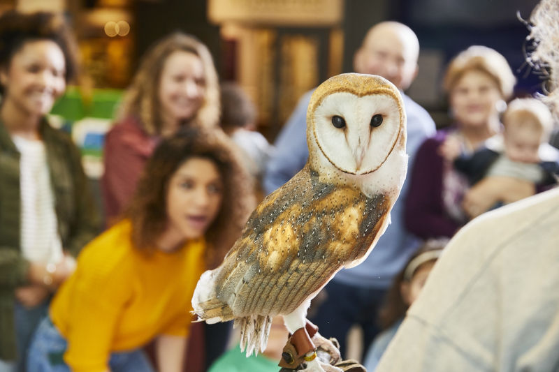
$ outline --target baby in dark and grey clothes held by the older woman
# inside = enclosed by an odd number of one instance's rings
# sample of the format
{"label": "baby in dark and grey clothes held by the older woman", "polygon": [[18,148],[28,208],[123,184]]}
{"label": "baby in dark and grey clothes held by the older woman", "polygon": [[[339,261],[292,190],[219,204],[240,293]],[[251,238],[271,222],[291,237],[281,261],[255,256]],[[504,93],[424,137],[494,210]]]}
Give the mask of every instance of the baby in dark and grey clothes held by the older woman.
{"label": "baby in dark and grey clothes held by the older woman", "polygon": [[502,135],[491,137],[470,156],[460,154],[453,141],[441,149],[472,184],[463,200],[471,218],[556,184],[559,151],[547,143],[553,119],[546,105],[535,98],[517,98],[502,120]]}

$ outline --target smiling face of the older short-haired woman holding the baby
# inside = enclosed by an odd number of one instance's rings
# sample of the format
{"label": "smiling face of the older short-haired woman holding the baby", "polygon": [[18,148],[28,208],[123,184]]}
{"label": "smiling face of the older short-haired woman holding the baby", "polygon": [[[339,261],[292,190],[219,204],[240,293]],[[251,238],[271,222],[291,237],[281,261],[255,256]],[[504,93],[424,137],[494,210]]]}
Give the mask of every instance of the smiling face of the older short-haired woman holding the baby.
{"label": "smiling face of the older short-haired woman holding the baby", "polygon": [[479,70],[464,73],[450,91],[454,118],[462,126],[485,128],[491,121],[498,120],[500,100],[497,82]]}

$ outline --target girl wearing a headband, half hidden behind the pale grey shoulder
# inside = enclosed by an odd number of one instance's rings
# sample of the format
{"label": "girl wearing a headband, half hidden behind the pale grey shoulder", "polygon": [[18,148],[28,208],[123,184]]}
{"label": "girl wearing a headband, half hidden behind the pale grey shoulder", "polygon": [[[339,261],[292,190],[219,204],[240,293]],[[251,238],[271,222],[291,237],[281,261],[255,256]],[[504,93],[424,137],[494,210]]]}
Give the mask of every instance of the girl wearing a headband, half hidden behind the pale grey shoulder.
{"label": "girl wearing a headband, half hidden behind the pale grey shoulder", "polygon": [[419,296],[431,269],[433,269],[448,241],[449,239],[446,238],[426,241],[409,258],[404,269],[395,276],[392,286],[386,294],[386,302],[379,312],[384,331],[373,341],[363,363],[368,372],[373,372],[377,368],[384,350],[398,331],[407,309]]}

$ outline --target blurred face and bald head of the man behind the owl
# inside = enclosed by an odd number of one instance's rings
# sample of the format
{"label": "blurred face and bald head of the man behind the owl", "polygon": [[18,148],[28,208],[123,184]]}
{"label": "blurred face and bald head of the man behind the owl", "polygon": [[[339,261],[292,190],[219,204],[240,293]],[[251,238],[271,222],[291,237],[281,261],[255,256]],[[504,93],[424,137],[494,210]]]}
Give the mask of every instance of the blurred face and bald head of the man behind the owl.
{"label": "blurred face and bald head of the man behind the owl", "polygon": [[407,89],[417,73],[419,45],[400,29],[373,29],[356,53],[354,69],[357,73],[380,75],[398,89]]}

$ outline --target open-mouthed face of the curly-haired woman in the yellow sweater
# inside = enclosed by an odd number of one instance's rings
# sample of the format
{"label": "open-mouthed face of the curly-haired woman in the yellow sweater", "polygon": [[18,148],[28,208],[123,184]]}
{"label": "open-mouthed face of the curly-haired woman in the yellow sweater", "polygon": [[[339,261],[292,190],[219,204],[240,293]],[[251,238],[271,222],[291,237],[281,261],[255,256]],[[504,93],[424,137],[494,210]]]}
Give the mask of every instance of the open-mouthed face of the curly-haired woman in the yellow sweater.
{"label": "open-mouthed face of the curly-haired woman in the yellow sweater", "polygon": [[219,212],[223,188],[222,177],[213,161],[190,158],[182,163],[169,181],[166,241],[180,244],[202,237]]}

